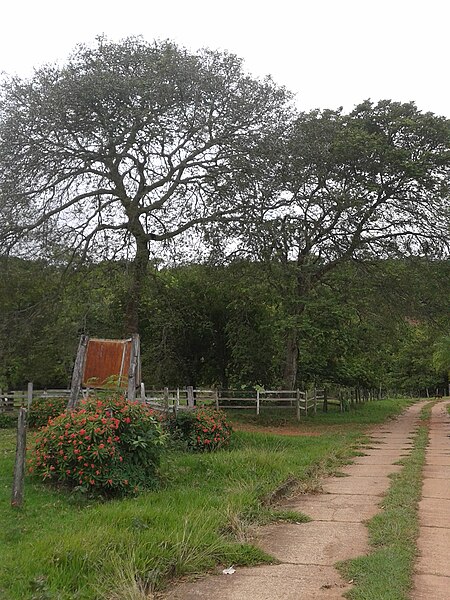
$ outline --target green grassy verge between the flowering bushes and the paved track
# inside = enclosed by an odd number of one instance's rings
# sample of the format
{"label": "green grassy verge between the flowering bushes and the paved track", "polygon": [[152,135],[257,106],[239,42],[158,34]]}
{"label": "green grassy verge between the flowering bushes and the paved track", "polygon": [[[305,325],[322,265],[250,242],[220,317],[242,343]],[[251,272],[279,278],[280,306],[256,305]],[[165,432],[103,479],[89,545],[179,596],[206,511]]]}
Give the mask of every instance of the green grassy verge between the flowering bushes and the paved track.
{"label": "green grassy verge between the flowering bushes and the paved track", "polygon": [[[379,404],[378,407],[375,405]],[[0,431],[0,597],[3,600],[145,598],[174,577],[217,564],[271,560],[250,543],[256,522],[304,516],[270,503],[290,481],[313,485],[346,462],[361,426],[403,404],[373,402],[338,414],[341,430],[288,437],[238,431],[233,446],[212,454],[168,453],[161,489],[138,498],[89,502],[26,482],[26,503],[10,507],[14,433]],[[357,417],[357,418],[356,418]],[[347,426],[350,422],[351,426]]]}

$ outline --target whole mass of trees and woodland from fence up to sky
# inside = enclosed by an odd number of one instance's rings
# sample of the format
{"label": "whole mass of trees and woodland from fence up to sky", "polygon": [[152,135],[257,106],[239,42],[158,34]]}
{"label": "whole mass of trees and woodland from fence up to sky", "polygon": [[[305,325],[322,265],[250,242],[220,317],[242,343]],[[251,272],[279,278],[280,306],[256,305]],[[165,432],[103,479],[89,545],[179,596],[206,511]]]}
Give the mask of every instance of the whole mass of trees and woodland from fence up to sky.
{"label": "whole mass of trees and woodland from fence up to sky", "polygon": [[141,38],[0,91],[0,386],[136,332],[147,386],[447,385],[447,118]]}

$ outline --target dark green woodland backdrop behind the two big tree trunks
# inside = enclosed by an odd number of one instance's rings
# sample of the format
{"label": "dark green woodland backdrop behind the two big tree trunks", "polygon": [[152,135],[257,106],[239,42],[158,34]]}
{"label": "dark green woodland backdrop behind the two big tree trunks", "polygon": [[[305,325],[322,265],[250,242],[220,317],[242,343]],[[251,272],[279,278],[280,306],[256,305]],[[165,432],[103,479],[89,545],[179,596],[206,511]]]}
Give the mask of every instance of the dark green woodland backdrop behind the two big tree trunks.
{"label": "dark green woodland backdrop behind the two big tree trunks", "polygon": [[[43,261],[10,259],[1,268],[0,388],[28,380],[36,388],[65,387],[81,332],[122,336],[126,263],[63,273]],[[147,387],[280,385],[290,317],[263,265],[153,268],[142,295]],[[381,385],[383,392],[422,395],[429,388],[434,396],[446,385],[449,314],[446,261],[343,266],[308,296],[299,386]]]}

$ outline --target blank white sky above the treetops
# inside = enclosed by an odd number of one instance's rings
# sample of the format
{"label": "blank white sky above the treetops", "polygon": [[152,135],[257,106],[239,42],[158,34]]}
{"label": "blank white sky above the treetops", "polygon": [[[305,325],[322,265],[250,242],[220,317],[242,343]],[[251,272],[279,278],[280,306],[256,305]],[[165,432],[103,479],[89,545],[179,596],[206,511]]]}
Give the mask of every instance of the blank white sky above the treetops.
{"label": "blank white sky above the treetops", "polygon": [[6,0],[0,70],[27,76],[105,33],[227,49],[302,110],[414,100],[450,117],[449,0]]}

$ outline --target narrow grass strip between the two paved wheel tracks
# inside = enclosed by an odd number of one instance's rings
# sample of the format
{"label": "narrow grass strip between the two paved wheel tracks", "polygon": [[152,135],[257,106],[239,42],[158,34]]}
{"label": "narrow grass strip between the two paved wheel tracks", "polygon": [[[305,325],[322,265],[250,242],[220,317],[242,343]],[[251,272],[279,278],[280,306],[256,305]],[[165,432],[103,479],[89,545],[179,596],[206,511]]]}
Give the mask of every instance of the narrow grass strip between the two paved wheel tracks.
{"label": "narrow grass strip between the two paved wheel tracks", "polygon": [[[429,410],[430,406],[426,405],[422,410],[423,419],[427,419]],[[347,594],[351,600],[407,600],[410,597],[418,535],[417,507],[427,444],[428,427],[421,425],[413,450],[403,461],[404,468],[392,476],[392,484],[383,500],[383,512],[368,523],[373,551],[339,565],[344,577],[354,582]]]}

